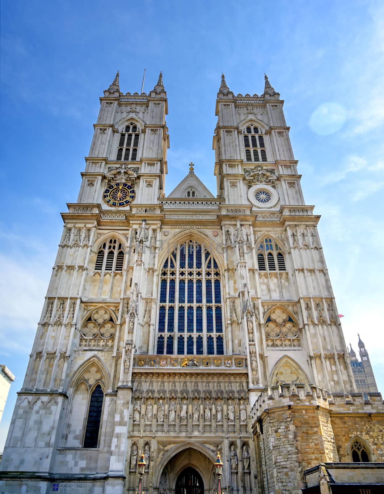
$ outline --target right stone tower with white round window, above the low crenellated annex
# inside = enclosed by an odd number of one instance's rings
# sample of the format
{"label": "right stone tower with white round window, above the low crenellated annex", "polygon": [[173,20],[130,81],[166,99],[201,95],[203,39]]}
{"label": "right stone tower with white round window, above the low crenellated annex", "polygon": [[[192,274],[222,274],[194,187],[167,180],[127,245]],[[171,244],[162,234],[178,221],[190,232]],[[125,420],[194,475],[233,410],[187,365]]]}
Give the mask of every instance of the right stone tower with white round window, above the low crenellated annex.
{"label": "right stone tower with white round window, above the low crenellated annex", "polygon": [[235,96],[222,77],[216,100],[213,148],[218,197],[228,206],[226,247],[230,214],[252,226],[252,241],[235,234],[240,263],[227,272],[230,286],[249,290],[252,300],[257,330],[248,325],[250,361],[256,358],[259,369],[252,382],[356,391],[316,228],[320,216],[303,199],[283,104],[266,76],[260,97]]}

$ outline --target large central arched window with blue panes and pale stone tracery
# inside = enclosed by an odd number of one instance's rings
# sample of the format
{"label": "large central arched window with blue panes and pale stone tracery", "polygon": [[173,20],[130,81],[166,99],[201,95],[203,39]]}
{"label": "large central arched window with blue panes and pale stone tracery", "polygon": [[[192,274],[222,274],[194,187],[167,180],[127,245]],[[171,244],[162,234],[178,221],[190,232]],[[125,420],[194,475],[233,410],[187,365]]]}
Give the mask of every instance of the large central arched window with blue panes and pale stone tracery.
{"label": "large central arched window with blue panes and pale stone tracery", "polygon": [[177,246],[160,271],[156,353],[223,355],[221,290],[211,250],[192,240]]}

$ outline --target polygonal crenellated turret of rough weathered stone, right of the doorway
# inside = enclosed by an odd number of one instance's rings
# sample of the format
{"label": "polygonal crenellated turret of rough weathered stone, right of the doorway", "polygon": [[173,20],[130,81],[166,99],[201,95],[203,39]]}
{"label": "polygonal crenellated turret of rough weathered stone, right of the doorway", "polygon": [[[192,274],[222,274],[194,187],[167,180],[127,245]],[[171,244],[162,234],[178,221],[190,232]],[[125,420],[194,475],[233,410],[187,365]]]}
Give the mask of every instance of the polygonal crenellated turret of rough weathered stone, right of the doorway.
{"label": "polygonal crenellated turret of rough weathered stone, right of the doorway", "polygon": [[310,386],[310,392],[304,385],[266,388],[251,413],[259,420],[255,442],[263,450],[269,492],[299,494],[306,468],[338,461],[327,397],[321,388]]}

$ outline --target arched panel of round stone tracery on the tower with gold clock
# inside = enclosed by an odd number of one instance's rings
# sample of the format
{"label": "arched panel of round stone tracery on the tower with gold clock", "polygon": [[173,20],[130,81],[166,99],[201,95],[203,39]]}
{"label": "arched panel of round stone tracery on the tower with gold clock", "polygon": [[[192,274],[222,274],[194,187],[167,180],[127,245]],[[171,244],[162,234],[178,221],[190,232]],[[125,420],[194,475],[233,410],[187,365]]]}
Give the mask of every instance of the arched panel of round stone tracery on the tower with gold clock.
{"label": "arched panel of round stone tracery on the tower with gold clock", "polygon": [[88,314],[80,331],[81,347],[112,348],[115,342],[116,325],[107,309],[99,307]]}

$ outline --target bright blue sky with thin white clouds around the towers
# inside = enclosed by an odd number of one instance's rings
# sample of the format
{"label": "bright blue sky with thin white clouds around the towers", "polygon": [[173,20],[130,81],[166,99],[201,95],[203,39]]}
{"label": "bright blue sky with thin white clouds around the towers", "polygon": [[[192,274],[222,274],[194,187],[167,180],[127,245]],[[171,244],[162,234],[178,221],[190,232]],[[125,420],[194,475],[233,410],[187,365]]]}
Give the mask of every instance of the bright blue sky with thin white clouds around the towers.
{"label": "bright blue sky with thin white clouds around the towers", "polygon": [[[235,93],[263,92],[284,111],[347,342],[357,332],[384,391],[384,5],[380,1],[1,2],[0,363],[16,376],[0,451],[21,388],[62,231],[99,110],[160,70],[169,98],[168,194],[195,163],[215,194],[212,136],[223,71]],[[378,312],[379,310],[379,312]]]}

